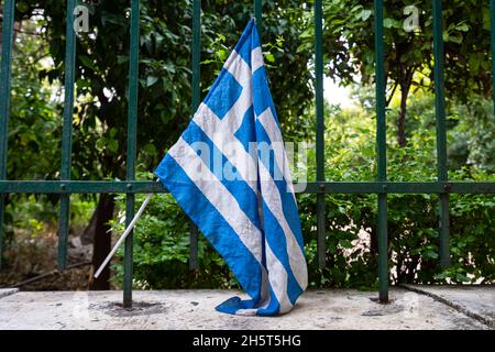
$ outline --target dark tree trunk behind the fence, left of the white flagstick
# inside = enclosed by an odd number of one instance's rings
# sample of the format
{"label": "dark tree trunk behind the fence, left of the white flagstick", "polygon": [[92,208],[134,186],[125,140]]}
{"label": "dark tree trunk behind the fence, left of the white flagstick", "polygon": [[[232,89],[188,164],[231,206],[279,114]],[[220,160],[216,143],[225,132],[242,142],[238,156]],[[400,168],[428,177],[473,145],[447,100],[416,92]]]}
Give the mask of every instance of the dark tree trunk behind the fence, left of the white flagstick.
{"label": "dark tree trunk behind the fence, left of the white flagstick", "polygon": [[96,224],[95,224],[95,243],[92,245],[92,268],[89,278],[89,289],[107,290],[110,289],[110,267],[109,265],[101,272],[98,278],[92,274],[98,270],[111,250],[111,232],[109,221],[113,218],[113,209],[116,201],[112,195],[102,194],[98,201]]}

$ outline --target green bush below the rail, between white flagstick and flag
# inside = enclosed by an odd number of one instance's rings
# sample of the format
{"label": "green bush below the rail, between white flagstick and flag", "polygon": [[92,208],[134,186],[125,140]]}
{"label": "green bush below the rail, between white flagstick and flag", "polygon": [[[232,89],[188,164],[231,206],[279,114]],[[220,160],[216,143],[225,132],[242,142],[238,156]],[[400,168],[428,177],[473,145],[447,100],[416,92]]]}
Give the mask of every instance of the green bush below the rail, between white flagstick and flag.
{"label": "green bush below the rail, between white flagstick and flag", "polygon": [[[142,175],[150,178],[151,175]],[[136,202],[144,201],[143,195]],[[117,198],[125,209],[125,198]],[[125,212],[119,211],[112,222],[116,233],[124,230]],[[155,195],[134,230],[134,286],[139,288],[230,288],[237,285],[222,258],[201,235],[198,243],[199,272],[189,270],[189,226],[187,216],[174,198]],[[123,257],[123,250],[117,254]],[[123,267],[114,264],[113,280],[122,282]]]}

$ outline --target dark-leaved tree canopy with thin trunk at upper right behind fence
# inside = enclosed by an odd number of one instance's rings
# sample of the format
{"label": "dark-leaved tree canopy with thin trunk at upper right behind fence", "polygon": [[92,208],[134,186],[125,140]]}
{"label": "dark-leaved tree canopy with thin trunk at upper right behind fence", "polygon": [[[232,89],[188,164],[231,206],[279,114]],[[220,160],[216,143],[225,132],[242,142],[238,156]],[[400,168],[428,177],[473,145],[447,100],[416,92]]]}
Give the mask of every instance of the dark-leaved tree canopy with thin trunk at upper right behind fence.
{"label": "dark-leaved tree canopy with thin trunk at upper right behind fence", "polygon": [[[400,109],[396,121],[397,143],[407,142],[407,99],[411,89],[433,89],[431,1],[393,0],[384,3],[385,72],[387,103],[398,89]],[[406,31],[416,12],[418,28]],[[373,1],[337,0],[324,4],[326,73],[344,85],[356,78],[371,84],[374,77]],[[468,101],[492,94],[490,9],[486,1],[454,0],[443,9],[446,90],[450,98]],[[311,35],[306,37],[310,38]],[[410,131],[409,131],[410,133]]]}

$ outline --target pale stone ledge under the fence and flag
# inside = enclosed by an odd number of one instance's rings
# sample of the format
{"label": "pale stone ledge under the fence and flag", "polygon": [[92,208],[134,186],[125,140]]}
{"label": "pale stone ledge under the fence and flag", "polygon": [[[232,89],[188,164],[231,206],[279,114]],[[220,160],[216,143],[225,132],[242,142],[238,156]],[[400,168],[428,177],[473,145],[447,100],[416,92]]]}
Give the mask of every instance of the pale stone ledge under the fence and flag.
{"label": "pale stone ledge under the fence and flag", "polygon": [[230,290],[134,292],[123,309],[121,292],[0,290],[0,330],[6,329],[494,329],[495,287],[414,286],[391,288],[391,304],[377,293],[309,290],[282,317],[219,314],[215,306],[239,295]]}

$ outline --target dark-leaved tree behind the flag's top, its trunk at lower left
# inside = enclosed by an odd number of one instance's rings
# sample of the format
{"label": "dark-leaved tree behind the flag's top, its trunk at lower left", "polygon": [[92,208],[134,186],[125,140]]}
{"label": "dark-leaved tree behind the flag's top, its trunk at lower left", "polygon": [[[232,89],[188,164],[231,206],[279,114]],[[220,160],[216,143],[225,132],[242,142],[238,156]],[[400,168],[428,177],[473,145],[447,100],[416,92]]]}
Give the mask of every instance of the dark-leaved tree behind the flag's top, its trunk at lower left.
{"label": "dark-leaved tree behind the flag's top, its trunk at lower left", "polygon": [[[77,40],[77,95],[74,120],[73,178],[101,179],[125,177],[127,89],[129,70],[129,1],[87,1],[90,12],[89,33]],[[301,138],[307,122],[299,120],[311,105],[311,75],[307,63],[312,53],[296,53],[302,31],[298,2],[280,0],[265,6],[264,38],[277,40],[284,47],[271,58],[276,67],[270,72],[278,101],[280,120],[293,138]],[[233,47],[252,16],[252,1],[234,4],[228,1],[204,1],[202,13],[202,94],[216,77],[215,52],[219,33],[223,45]],[[51,80],[62,79],[65,53],[65,7],[55,0],[22,0],[18,16],[43,16],[43,33],[50,43],[55,68],[42,73]],[[138,150],[140,167],[153,170],[166,148],[177,140],[187,124],[190,111],[191,1],[143,1],[140,35],[140,96]],[[289,70],[297,82],[287,79]],[[95,253],[110,245],[107,226],[112,219],[113,198],[101,196],[94,217]],[[107,277],[94,283],[106,288]]]}

